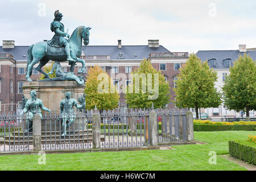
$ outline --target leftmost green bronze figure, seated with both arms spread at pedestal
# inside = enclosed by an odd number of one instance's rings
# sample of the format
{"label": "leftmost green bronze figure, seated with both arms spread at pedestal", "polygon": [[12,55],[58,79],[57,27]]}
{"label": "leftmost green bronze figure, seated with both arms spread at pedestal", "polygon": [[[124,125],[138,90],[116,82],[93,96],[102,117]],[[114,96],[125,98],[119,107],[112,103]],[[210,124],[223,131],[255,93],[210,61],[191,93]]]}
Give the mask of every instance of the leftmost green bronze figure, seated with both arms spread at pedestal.
{"label": "leftmost green bronze figure, seated with both arms spread at pedestal", "polygon": [[25,130],[25,133],[28,133],[28,131],[32,132],[32,130],[33,130],[32,121],[33,121],[34,114],[38,113],[40,115],[40,117],[42,118],[43,116],[42,116],[41,109],[44,111],[48,111],[48,113],[51,113],[51,110],[44,107],[43,101],[40,100],[39,98],[36,98],[35,90],[32,90],[30,92],[30,96],[31,96],[31,98],[29,100],[27,100],[27,102],[24,106],[24,109],[20,113],[20,115],[27,113],[27,120],[26,120],[27,129]]}

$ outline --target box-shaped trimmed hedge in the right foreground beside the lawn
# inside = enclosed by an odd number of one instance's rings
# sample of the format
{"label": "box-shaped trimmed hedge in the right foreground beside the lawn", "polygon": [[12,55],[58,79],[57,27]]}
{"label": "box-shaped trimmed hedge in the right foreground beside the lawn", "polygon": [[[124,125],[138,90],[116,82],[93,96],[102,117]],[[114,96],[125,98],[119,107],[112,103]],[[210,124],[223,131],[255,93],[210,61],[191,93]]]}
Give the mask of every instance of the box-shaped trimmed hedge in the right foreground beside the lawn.
{"label": "box-shaped trimmed hedge in the right foreground beside the lawn", "polygon": [[229,155],[256,165],[256,144],[247,141],[229,141]]}

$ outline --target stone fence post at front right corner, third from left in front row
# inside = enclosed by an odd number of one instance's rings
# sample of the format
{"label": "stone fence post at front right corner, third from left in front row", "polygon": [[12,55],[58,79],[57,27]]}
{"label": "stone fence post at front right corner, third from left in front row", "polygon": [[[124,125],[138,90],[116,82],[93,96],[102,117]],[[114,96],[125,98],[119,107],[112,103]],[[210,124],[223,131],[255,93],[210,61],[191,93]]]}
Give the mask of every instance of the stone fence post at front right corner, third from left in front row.
{"label": "stone fence post at front right corner, third from left in front row", "polygon": [[150,111],[150,145],[158,146],[158,126],[157,126],[157,114],[155,110]]}

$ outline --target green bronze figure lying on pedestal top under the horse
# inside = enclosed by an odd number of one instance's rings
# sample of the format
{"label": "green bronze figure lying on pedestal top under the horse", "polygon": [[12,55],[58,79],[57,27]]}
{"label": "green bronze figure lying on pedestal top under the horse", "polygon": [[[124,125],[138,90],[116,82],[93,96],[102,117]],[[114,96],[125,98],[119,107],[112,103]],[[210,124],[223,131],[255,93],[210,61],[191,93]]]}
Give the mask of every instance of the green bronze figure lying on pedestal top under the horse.
{"label": "green bronze figure lying on pedestal top under the horse", "polygon": [[83,76],[77,77],[75,75],[75,73],[73,73],[73,72],[68,72],[68,73],[63,72],[63,70],[61,69],[61,65],[60,65],[59,61],[55,61],[55,63],[52,66],[52,70],[51,70],[51,72],[48,73],[48,75],[52,74],[53,71],[55,71],[56,77],[51,78],[51,79],[46,78],[46,79],[40,80],[40,81],[75,80],[80,85],[84,84],[84,77]]}

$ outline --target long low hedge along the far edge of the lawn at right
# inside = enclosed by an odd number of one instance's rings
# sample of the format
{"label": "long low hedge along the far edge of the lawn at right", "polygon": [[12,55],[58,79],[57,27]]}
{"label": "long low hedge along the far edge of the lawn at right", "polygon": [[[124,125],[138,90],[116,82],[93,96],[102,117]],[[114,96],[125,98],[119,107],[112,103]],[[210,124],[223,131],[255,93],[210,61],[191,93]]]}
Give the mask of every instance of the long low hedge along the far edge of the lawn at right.
{"label": "long low hedge along the far edge of the lawn at right", "polygon": [[229,131],[229,130],[245,130],[255,131],[255,125],[201,125],[193,124],[194,131]]}

